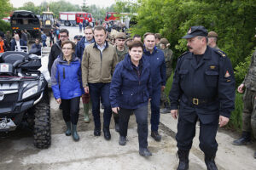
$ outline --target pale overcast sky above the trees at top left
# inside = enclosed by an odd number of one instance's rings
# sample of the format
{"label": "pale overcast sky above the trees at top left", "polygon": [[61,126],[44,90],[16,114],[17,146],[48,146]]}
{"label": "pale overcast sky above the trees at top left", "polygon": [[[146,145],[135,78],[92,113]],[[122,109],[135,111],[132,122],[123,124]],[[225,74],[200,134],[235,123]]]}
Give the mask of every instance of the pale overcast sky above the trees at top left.
{"label": "pale overcast sky above the trees at top left", "polygon": [[[10,3],[12,3],[15,8],[18,8],[18,7],[22,7],[23,3],[32,2],[36,6],[38,6],[40,3],[44,1],[50,3],[50,2],[57,2],[59,0],[10,0]],[[79,4],[79,5],[82,5],[83,3],[83,0],[74,0],[74,1],[65,0],[65,1],[70,3],[72,2],[73,4]],[[100,6],[100,7],[109,7],[114,3],[114,0],[86,0],[85,2],[87,3],[87,5],[96,4],[97,6]]]}

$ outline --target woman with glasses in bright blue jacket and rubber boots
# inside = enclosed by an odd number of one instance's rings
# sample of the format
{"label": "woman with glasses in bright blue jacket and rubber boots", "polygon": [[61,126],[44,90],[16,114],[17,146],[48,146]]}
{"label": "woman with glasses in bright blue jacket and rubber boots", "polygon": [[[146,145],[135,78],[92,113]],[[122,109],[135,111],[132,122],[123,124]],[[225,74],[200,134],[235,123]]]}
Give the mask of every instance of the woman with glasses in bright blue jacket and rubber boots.
{"label": "woman with glasses in bright blue jacket and rubber boots", "polygon": [[72,134],[73,139],[78,141],[79,103],[80,96],[84,94],[81,62],[74,54],[74,42],[62,42],[61,48],[62,54],[55,59],[51,68],[51,87],[56,102],[62,106],[63,119],[67,125],[66,135]]}

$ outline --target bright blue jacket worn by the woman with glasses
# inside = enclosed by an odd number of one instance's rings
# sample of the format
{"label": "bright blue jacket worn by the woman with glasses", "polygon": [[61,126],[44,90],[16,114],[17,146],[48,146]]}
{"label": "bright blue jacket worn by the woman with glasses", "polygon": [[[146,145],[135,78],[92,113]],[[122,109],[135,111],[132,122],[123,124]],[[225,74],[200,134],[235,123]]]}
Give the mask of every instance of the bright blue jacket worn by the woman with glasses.
{"label": "bright blue jacket worn by the woman with glasses", "polygon": [[73,54],[68,64],[62,54],[59,55],[51,68],[51,83],[55,99],[72,99],[84,94],[80,59]]}

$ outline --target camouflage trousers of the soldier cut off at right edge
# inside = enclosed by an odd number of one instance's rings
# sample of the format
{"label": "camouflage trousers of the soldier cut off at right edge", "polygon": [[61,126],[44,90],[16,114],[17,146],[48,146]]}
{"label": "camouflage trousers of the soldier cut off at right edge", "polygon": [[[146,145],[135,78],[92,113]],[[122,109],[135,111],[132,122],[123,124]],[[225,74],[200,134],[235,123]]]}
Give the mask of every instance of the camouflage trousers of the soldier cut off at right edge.
{"label": "camouflage trousers of the soldier cut off at right edge", "polygon": [[246,88],[243,96],[242,131],[251,132],[256,138],[256,92]]}

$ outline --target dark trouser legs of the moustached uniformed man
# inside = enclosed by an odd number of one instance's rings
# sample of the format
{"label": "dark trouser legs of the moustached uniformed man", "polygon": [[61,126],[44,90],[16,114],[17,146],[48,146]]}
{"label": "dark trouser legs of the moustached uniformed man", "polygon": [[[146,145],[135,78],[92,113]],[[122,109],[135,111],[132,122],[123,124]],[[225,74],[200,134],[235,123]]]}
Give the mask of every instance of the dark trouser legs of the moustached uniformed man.
{"label": "dark trouser legs of the moustached uniformed man", "polygon": [[[195,137],[195,122],[188,122],[181,116],[177,122],[177,148],[179,150],[190,150],[193,139]],[[207,156],[214,156],[218,149],[218,143],[216,141],[216,133],[218,130],[218,120],[208,124],[200,122],[200,135],[199,135],[199,147]]]}

